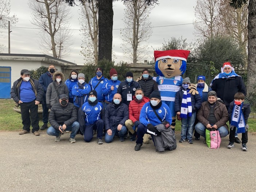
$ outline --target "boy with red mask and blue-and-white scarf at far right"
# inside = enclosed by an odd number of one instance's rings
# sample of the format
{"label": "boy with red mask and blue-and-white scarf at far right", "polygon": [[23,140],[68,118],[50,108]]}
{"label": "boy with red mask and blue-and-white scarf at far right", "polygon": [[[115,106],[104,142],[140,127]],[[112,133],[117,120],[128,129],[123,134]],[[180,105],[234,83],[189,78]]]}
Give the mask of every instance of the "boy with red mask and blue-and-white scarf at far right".
{"label": "boy with red mask and blue-and-white scarf at far right", "polygon": [[244,94],[236,93],[234,95],[234,101],[229,105],[229,121],[230,121],[230,133],[229,133],[229,144],[228,149],[234,147],[235,132],[242,133],[242,150],[247,151],[248,142],[248,124],[247,120],[251,113],[250,104],[244,104]]}

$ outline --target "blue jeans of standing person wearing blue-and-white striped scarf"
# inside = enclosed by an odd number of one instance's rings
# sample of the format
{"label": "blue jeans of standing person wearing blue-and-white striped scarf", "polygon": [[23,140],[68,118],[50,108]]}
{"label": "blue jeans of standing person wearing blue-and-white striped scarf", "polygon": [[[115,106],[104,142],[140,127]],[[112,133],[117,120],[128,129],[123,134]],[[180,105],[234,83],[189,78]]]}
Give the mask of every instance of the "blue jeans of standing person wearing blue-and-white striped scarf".
{"label": "blue jeans of standing person wearing blue-and-white striped scarf", "polygon": [[196,113],[193,112],[191,117],[181,118],[181,138],[182,139],[192,139],[194,131]]}

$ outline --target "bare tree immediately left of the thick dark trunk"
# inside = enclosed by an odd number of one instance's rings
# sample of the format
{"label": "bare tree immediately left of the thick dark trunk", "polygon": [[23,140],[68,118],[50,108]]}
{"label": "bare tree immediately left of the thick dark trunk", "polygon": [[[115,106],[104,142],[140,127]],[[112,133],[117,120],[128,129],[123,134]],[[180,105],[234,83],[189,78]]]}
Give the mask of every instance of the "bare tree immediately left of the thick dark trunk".
{"label": "bare tree immediately left of the thick dark trunk", "polygon": [[97,0],[81,2],[80,26],[82,33],[82,55],[85,56],[86,62],[94,60],[98,65],[98,7]]}

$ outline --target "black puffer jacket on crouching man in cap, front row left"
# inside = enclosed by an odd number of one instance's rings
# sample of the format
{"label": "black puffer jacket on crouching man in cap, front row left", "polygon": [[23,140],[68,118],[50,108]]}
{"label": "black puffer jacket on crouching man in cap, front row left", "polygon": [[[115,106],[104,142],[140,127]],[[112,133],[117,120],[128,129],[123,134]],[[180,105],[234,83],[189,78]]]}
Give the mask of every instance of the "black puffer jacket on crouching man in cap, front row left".
{"label": "black puffer jacket on crouching man in cap, front row left", "polygon": [[61,103],[55,103],[50,110],[49,122],[54,129],[59,130],[59,125],[72,125],[77,121],[77,110],[73,103],[67,103],[62,106]]}

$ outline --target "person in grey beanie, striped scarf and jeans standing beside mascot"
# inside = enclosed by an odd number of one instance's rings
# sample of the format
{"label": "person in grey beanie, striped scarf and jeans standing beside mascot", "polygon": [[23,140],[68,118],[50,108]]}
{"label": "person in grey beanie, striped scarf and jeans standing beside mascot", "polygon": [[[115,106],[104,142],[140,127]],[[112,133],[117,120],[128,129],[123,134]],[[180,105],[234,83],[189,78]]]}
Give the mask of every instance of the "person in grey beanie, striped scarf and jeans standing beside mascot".
{"label": "person in grey beanie, striped scarf and jeans standing beside mascot", "polygon": [[196,117],[196,111],[201,107],[202,99],[199,94],[189,93],[190,79],[187,77],[182,82],[181,90],[175,96],[175,113],[181,115],[181,140],[188,139],[193,144],[192,135]]}

